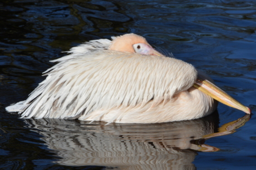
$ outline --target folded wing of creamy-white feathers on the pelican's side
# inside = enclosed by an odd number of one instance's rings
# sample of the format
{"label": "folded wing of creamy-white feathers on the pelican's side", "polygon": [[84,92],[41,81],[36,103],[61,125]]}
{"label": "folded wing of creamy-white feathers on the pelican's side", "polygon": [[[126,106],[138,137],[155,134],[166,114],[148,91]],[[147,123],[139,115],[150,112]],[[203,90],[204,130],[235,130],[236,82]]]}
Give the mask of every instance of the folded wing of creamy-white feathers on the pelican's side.
{"label": "folded wing of creamy-white feathers on the pelican's side", "polygon": [[22,117],[86,119],[97,110],[142,107],[151,100],[158,105],[197,77],[192,65],[174,58],[111,50],[73,51],[64,58],[45,72],[46,80],[19,111]]}

